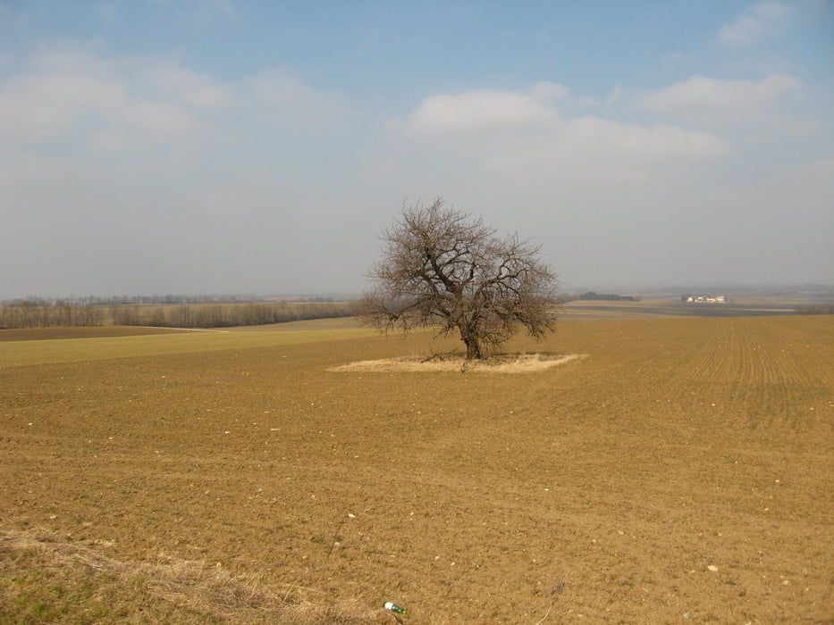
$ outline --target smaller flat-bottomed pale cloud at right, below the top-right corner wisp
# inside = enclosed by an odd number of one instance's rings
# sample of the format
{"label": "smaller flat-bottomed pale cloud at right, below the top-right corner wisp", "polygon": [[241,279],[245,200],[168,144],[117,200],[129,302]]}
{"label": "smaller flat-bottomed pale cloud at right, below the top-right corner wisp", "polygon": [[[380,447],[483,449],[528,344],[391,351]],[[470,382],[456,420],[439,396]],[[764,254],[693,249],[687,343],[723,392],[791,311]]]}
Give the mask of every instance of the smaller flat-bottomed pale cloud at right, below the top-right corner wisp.
{"label": "smaller flat-bottomed pale cloud at right, below the top-right corner wisp", "polygon": [[801,96],[802,81],[785,74],[761,80],[727,80],[694,76],[660,91],[637,96],[644,108],[710,126],[770,121],[771,111]]}

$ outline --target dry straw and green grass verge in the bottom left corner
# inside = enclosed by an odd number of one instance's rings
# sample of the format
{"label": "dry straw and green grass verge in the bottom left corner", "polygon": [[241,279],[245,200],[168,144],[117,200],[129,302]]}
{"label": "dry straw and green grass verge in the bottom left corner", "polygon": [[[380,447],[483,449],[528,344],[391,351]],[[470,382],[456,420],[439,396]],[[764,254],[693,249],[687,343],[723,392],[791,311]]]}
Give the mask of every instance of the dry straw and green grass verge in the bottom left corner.
{"label": "dry straw and green grass verge in the bottom left corner", "polygon": [[[355,605],[296,585],[266,587],[205,562],[120,562],[48,531],[0,531],[0,621],[359,625]],[[4,606],[4,607],[3,607]]]}

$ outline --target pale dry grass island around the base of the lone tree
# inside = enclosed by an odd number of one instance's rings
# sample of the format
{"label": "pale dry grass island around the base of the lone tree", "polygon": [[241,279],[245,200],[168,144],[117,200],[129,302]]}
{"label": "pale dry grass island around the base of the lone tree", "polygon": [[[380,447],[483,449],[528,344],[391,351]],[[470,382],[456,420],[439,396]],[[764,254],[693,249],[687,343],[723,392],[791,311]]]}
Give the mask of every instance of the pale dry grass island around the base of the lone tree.
{"label": "pale dry grass island around the base of the lone tree", "polygon": [[402,356],[350,362],[327,371],[434,372],[459,371],[465,373],[532,373],[544,371],[566,362],[585,358],[587,354],[501,354],[479,361],[466,360],[459,354]]}

